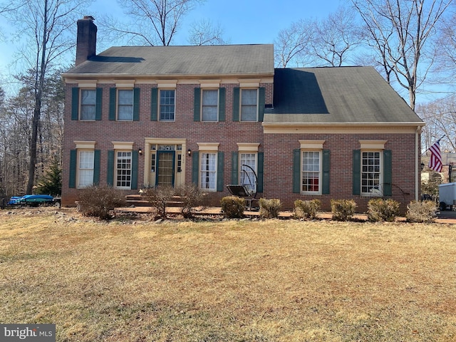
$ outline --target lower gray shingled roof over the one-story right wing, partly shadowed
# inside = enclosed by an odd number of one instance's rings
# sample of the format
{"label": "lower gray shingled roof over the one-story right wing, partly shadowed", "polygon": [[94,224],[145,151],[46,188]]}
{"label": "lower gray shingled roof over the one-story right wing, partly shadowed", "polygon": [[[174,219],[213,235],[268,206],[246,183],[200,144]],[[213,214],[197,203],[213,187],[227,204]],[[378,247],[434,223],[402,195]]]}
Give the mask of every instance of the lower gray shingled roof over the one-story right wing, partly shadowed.
{"label": "lower gray shingled roof over the one-story right wing, partly shadowed", "polygon": [[286,68],[264,123],[423,123],[372,67]]}

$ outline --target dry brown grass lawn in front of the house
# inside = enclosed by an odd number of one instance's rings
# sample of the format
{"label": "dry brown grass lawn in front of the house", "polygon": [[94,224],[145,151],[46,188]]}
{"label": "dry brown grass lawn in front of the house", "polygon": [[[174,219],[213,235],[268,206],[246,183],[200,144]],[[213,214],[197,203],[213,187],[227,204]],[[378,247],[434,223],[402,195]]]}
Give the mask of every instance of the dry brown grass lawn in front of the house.
{"label": "dry brown grass lawn in front of the house", "polygon": [[2,323],[58,341],[455,341],[450,224],[0,212]]}

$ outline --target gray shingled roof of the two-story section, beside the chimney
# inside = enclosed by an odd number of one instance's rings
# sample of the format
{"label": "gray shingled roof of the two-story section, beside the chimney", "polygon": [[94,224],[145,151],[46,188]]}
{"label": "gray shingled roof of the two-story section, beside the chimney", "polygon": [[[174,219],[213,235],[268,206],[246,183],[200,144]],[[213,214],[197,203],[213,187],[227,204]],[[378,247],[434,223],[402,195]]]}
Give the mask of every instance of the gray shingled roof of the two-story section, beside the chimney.
{"label": "gray shingled roof of the two-story section, beside the chimney", "polygon": [[120,46],[65,74],[132,76],[257,75],[274,73],[274,46]]}

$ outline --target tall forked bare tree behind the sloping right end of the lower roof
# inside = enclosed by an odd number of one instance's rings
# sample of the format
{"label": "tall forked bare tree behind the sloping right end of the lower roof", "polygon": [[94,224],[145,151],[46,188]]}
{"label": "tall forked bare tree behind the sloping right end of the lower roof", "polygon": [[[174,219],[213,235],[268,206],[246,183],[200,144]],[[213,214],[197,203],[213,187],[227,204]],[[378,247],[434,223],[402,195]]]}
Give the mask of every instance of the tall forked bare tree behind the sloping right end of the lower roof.
{"label": "tall forked bare tree behind the sloping right end of the lower roof", "polygon": [[408,90],[415,109],[416,93],[434,61],[432,38],[452,0],[351,0],[361,15],[375,61]]}

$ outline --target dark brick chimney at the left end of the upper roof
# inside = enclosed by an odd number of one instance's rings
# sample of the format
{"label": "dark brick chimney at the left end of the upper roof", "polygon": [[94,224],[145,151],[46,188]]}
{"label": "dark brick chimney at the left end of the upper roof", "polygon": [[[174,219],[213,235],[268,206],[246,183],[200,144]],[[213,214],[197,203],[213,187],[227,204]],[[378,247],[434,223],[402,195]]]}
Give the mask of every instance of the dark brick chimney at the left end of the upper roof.
{"label": "dark brick chimney at the left end of the upper roof", "polygon": [[78,38],[76,41],[76,66],[96,55],[97,26],[93,16],[84,16],[78,20]]}

